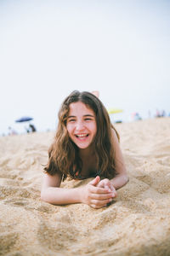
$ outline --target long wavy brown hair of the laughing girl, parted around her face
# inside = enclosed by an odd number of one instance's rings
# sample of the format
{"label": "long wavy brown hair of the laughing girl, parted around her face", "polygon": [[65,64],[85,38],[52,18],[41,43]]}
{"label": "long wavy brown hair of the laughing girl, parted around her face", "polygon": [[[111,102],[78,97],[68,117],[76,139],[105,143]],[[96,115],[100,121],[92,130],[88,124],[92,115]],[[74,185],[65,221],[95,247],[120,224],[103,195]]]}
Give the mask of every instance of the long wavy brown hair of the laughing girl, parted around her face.
{"label": "long wavy brown hair of the laughing girl, parted around her face", "polygon": [[[71,141],[66,129],[66,122],[69,114],[69,106],[72,102],[82,102],[95,113],[97,133],[94,138],[95,155],[97,159],[97,169],[100,170],[101,177],[114,177],[115,149],[112,143],[111,120],[103,103],[97,96],[88,91],[74,90],[65,98],[59,109],[59,122],[54,137],[54,143],[48,150],[48,165],[44,168],[50,175],[60,172],[64,178],[68,175],[76,177],[77,171],[81,173],[82,160],[79,157],[77,145]],[[115,130],[116,131],[116,130]],[[119,135],[116,131],[119,139]]]}

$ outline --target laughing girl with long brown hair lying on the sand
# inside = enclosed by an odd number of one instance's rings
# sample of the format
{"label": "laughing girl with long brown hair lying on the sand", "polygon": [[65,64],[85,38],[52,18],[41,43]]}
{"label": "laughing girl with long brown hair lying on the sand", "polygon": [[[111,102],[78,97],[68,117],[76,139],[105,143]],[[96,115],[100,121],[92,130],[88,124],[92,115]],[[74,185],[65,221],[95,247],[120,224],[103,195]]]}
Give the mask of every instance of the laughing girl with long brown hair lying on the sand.
{"label": "laughing girl with long brown hair lying on the sand", "polygon": [[[127,183],[118,133],[96,92],[75,90],[66,97],[44,170],[42,201],[56,205],[105,207]],[[59,188],[66,177],[94,179],[82,187]]]}

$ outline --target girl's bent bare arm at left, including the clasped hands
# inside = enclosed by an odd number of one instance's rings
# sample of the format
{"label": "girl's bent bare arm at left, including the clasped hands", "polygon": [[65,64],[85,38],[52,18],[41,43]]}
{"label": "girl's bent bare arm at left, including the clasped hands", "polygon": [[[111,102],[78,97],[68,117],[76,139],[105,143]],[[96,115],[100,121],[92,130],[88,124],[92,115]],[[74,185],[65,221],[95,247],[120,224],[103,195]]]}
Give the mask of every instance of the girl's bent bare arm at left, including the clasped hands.
{"label": "girl's bent bare arm at left, including the clasped hands", "polygon": [[73,189],[59,188],[61,176],[55,174],[43,174],[42,180],[42,201],[56,205],[65,205],[71,203],[85,203],[90,207],[104,207],[113,197],[111,189],[98,188],[99,177],[95,177],[90,183],[85,186]]}

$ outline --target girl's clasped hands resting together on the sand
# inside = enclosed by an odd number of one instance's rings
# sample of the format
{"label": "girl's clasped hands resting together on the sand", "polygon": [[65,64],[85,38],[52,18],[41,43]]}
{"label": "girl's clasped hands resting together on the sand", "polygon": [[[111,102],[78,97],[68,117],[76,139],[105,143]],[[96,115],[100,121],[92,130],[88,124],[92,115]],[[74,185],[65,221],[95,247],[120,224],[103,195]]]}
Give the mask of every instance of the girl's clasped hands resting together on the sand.
{"label": "girl's clasped hands resting together on the sand", "polygon": [[[95,209],[99,209],[101,207],[106,207],[106,205],[112,201],[112,198],[115,197],[115,191],[104,186],[101,182],[100,177],[97,176],[86,186],[82,187],[82,203]],[[100,186],[98,186],[99,183],[101,183]]]}

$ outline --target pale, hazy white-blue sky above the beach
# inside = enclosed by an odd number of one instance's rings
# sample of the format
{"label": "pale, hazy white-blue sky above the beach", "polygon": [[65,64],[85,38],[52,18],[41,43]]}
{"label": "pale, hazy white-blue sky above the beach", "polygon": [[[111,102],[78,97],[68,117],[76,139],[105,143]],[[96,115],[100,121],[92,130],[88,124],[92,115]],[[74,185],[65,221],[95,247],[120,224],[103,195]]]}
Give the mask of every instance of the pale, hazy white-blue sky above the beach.
{"label": "pale, hazy white-blue sky above the beach", "polygon": [[0,135],[54,130],[72,90],[99,90],[111,120],[170,113],[170,1],[1,0]]}

